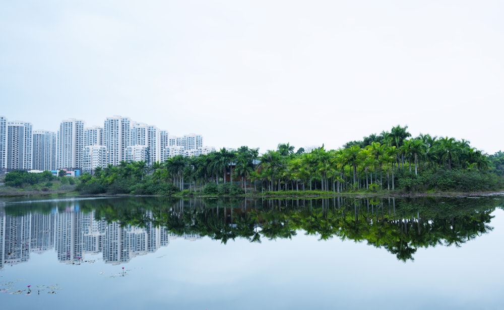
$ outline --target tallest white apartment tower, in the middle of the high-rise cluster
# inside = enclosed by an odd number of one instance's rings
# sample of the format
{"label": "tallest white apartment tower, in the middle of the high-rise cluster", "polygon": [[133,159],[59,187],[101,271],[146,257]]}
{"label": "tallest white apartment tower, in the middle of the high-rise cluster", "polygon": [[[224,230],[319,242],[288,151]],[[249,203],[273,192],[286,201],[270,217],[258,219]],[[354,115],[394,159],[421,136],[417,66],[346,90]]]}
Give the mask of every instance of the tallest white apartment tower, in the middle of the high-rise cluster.
{"label": "tallest white apartment tower, in the middle of the high-rise cluster", "polygon": [[132,145],[131,119],[129,117],[107,117],[103,126],[103,144],[107,148],[107,163],[117,166],[126,159],[126,148]]}

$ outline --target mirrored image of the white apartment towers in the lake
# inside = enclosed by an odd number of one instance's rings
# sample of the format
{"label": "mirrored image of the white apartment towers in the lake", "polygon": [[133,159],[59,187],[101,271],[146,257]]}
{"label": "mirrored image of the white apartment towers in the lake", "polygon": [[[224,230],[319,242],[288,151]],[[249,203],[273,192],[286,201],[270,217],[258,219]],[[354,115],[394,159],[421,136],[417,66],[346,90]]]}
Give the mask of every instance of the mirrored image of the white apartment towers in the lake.
{"label": "mirrored image of the white apartment towers in the lake", "polygon": [[[146,211],[146,216],[151,216]],[[67,207],[64,212],[54,209],[49,214],[28,213],[11,216],[0,209],[0,269],[27,262],[30,254],[55,251],[59,262],[76,264],[86,254],[102,253],[103,261],[110,264],[127,263],[139,255],[156,252],[171,239],[201,239],[200,236],[169,233],[166,227],[121,226],[95,218],[94,211],[83,213],[79,205]]]}

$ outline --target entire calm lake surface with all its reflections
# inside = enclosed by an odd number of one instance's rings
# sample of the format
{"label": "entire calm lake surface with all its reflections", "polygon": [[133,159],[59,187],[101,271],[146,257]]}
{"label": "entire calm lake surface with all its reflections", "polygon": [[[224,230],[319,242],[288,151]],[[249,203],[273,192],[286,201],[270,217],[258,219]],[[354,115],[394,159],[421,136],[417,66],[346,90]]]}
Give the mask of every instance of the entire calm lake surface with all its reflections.
{"label": "entire calm lake surface with all its reflections", "polygon": [[0,305],[502,309],[503,205],[3,199]]}

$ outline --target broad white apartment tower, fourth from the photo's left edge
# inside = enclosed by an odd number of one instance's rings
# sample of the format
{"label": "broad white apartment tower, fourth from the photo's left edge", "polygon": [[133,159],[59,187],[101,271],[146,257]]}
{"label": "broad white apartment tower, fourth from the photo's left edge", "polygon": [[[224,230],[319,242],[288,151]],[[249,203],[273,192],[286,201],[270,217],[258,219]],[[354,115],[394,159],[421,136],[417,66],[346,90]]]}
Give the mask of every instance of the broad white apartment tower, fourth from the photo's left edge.
{"label": "broad white apartment tower, fourth from the photo's left edge", "polygon": [[56,169],[82,169],[84,121],[66,119],[59,123],[56,147]]}

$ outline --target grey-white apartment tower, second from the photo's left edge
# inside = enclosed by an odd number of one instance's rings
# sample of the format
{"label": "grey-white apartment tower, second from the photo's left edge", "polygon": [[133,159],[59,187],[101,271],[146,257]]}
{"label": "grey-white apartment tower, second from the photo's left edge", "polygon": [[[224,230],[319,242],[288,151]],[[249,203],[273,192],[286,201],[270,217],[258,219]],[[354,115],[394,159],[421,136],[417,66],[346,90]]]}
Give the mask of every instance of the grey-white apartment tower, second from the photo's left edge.
{"label": "grey-white apartment tower, second from the photo's left edge", "polygon": [[32,168],[32,125],[24,121],[7,122],[6,169]]}

